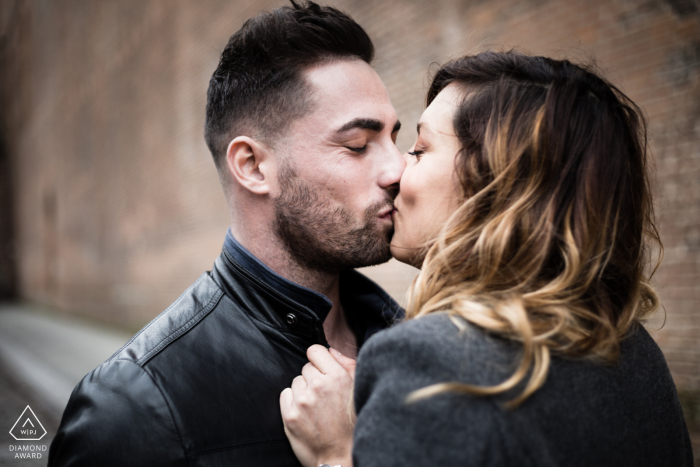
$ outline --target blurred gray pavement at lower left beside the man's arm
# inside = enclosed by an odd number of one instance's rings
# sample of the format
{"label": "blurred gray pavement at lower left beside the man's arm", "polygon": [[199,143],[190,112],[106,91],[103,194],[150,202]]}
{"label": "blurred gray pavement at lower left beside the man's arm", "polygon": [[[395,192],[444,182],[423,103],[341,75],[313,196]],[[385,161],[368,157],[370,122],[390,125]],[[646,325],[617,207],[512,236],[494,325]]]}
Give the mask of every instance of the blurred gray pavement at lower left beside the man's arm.
{"label": "blurred gray pavement at lower left beside the man's arm", "polygon": [[[73,387],[129,338],[40,308],[0,304],[0,466],[45,466]],[[9,433],[27,405],[47,431],[39,441]],[[18,446],[35,446],[37,458],[17,458]]]}

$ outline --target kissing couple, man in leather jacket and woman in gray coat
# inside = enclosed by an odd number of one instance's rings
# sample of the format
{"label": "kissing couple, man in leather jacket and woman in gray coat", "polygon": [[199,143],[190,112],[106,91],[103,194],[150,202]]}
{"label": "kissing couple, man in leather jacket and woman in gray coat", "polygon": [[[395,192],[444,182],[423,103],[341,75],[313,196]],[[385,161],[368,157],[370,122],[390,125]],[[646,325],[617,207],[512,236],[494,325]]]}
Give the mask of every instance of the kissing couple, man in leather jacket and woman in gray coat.
{"label": "kissing couple, man in leather jacket and woman in gray coat", "polygon": [[[373,56],[313,2],[231,36],[222,253],[78,384],[49,466],[692,465],[642,326],[641,110],[591,67],[467,55],[402,155]],[[354,270],[392,256],[420,269],[405,312]]]}

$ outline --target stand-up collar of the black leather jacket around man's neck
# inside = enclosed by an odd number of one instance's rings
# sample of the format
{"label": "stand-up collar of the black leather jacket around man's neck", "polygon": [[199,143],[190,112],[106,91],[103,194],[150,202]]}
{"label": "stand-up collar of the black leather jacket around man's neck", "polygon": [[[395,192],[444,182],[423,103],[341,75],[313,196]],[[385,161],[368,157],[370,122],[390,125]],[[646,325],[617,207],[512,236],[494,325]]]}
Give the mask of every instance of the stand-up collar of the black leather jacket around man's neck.
{"label": "stand-up collar of the black leather jacket around man's neck", "polygon": [[[273,307],[277,314],[283,315],[279,318],[283,319],[290,308],[308,310],[315,318],[313,319],[315,323],[308,324],[315,328],[315,334],[323,335],[323,321],[333,306],[326,296],[274,272],[246,250],[233,237],[230,229],[226,234],[221,256],[216,266],[221,270],[219,273],[224,273],[217,274],[222,280],[228,282],[228,279],[235,277],[236,282],[243,280],[255,282],[258,285],[264,284],[267,295],[276,297],[277,303],[286,304],[286,306]],[[232,284],[228,285],[225,289],[229,289],[230,293],[234,289],[230,287]],[[357,337],[358,347],[372,334],[389,327],[404,316],[403,309],[381,287],[352,269],[340,274],[340,301],[349,325]],[[325,342],[325,336],[320,340]]]}

